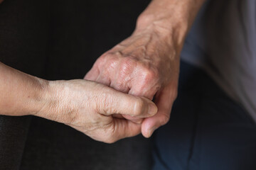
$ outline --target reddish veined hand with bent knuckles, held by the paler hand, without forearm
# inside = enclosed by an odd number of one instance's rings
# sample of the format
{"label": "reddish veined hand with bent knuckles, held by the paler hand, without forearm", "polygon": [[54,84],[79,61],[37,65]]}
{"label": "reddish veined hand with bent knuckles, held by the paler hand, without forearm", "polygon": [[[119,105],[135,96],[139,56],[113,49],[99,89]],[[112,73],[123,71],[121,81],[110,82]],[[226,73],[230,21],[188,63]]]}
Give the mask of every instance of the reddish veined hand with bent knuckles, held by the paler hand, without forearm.
{"label": "reddish veined hand with bent knuckles, held by the paler hand, without forearm", "polygon": [[[144,137],[150,137],[156,128],[168,122],[177,95],[181,47],[176,47],[171,36],[161,35],[151,28],[136,30],[131,37],[100,56],[85,75],[85,79],[118,91],[150,100],[154,98],[159,111],[143,121]],[[123,116],[134,120],[129,115]]]}

